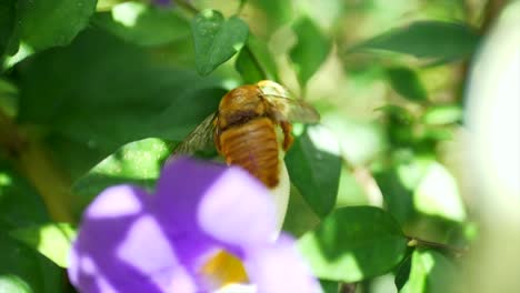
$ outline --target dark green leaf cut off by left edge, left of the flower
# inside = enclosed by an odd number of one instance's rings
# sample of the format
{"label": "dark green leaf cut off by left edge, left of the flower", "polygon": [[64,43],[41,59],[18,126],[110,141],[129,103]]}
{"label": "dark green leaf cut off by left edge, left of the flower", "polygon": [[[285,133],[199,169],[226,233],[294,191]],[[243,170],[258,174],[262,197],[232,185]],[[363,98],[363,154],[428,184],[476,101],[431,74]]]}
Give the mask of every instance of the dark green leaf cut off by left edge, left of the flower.
{"label": "dark green leaf cut off by left edge, left of the flower", "polygon": [[49,221],[46,206],[31,184],[0,161],[0,231]]}

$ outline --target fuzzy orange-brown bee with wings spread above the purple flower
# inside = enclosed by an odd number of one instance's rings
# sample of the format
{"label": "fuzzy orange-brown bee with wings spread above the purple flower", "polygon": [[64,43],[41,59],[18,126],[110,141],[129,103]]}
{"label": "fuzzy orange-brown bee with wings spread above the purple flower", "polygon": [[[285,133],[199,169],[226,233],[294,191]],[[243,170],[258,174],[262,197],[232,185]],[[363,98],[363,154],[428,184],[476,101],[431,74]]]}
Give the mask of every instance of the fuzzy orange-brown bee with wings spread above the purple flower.
{"label": "fuzzy orange-brown bee with wings spread above the purple flower", "polygon": [[319,120],[312,107],[290,99],[279,83],[263,80],[229,91],[218,111],[188,134],[173,154],[190,154],[214,144],[227,164],[242,166],[274,189],[279,184],[283,154],[293,142],[291,122]]}

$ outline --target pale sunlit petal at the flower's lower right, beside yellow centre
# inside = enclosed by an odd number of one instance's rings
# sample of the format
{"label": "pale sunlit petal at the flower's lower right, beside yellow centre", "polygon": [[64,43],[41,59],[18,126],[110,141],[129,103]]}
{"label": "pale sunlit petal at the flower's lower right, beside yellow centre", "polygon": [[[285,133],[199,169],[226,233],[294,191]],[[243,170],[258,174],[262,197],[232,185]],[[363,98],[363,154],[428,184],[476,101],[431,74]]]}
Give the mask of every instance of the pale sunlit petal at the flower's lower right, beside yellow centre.
{"label": "pale sunlit petal at the flower's lower right, beside yellow centre", "polygon": [[321,292],[294,241],[284,234],[272,245],[247,252],[246,269],[259,293]]}

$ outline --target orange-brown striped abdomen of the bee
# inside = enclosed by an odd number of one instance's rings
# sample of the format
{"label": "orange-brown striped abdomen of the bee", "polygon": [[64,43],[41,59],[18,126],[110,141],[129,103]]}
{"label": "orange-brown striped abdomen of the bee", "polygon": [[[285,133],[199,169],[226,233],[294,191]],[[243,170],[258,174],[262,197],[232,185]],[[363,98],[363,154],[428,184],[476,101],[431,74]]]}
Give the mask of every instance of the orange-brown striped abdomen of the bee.
{"label": "orange-brown striped abdomen of the bee", "polygon": [[269,118],[258,118],[220,134],[221,152],[228,164],[237,164],[274,188],[279,182],[278,141]]}

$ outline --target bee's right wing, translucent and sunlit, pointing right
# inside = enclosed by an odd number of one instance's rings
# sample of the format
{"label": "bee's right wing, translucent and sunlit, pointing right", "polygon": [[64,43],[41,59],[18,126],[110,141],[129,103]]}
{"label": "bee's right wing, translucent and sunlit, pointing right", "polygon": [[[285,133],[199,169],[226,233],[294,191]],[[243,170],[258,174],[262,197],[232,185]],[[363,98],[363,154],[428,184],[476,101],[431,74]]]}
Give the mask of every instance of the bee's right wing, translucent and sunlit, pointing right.
{"label": "bee's right wing, translucent and sunlit, pointing right", "polygon": [[271,111],[278,121],[318,123],[320,114],[316,109],[301,101],[276,94],[264,94],[271,104]]}

